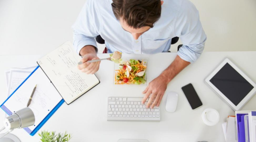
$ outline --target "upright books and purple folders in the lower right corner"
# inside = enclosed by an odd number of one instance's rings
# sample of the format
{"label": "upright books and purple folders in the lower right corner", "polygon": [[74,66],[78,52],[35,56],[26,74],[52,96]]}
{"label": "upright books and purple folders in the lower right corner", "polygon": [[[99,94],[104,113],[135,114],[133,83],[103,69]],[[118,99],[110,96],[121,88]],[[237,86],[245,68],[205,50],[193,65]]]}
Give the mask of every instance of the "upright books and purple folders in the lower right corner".
{"label": "upright books and purple folders in the lower right corner", "polygon": [[256,142],[256,110],[236,111],[222,128],[226,142]]}

